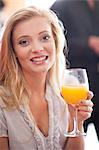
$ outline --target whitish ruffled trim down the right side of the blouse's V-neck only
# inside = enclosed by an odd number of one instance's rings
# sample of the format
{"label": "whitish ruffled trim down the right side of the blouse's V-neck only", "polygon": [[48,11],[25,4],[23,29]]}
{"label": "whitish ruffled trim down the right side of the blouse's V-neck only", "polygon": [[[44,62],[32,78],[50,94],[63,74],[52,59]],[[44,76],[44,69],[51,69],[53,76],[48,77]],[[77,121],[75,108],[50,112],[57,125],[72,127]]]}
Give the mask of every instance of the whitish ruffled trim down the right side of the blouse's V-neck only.
{"label": "whitish ruffled trim down the right side of the blouse's V-neck only", "polygon": [[[47,100],[51,103],[51,106],[49,105],[50,113],[49,115],[52,116],[53,118],[53,133],[52,133],[52,147],[53,150],[61,150],[60,143],[59,143],[59,105],[58,105],[58,100],[56,99],[57,97],[53,93],[53,91],[50,89],[50,86],[47,87]],[[57,103],[56,103],[57,101]],[[52,110],[53,109],[53,110]],[[47,145],[48,150],[52,150],[50,148],[50,143]]]}

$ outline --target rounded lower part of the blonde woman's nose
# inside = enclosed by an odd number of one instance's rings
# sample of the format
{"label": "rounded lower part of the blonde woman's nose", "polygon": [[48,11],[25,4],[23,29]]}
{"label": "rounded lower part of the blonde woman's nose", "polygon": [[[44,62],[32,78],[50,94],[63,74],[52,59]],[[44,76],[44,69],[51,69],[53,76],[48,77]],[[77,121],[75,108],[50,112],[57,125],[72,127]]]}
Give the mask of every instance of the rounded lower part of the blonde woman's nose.
{"label": "rounded lower part of the blonde woman's nose", "polygon": [[43,45],[39,41],[35,41],[32,44],[32,52],[39,53],[43,50]]}

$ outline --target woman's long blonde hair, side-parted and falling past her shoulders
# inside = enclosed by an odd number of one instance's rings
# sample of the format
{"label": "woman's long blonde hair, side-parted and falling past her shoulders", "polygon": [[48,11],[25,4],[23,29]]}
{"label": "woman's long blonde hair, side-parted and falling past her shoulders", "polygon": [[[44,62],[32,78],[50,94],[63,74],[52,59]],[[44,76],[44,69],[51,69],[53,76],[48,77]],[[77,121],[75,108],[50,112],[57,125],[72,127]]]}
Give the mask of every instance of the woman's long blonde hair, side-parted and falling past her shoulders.
{"label": "woman's long blonde hair, side-parted and falling past her shoulders", "polygon": [[65,69],[65,58],[63,55],[65,36],[60,21],[57,15],[49,9],[27,7],[15,12],[4,26],[0,62],[0,97],[7,107],[19,106],[22,101],[29,98],[20,64],[15,57],[12,34],[14,27],[18,23],[35,16],[46,17],[51,25],[56,45],[56,62],[49,70],[47,80],[56,93],[60,91],[62,72]]}

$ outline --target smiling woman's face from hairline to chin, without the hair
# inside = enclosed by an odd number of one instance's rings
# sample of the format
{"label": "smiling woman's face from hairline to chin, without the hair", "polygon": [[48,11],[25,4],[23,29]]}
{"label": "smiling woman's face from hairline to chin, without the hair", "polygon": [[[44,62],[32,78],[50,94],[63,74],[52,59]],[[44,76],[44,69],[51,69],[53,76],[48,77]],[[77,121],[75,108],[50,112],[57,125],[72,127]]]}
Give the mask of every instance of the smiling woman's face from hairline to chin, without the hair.
{"label": "smiling woman's face from hairline to chin, without the hair", "polygon": [[55,62],[55,41],[44,17],[20,22],[13,31],[13,47],[22,71],[47,72]]}

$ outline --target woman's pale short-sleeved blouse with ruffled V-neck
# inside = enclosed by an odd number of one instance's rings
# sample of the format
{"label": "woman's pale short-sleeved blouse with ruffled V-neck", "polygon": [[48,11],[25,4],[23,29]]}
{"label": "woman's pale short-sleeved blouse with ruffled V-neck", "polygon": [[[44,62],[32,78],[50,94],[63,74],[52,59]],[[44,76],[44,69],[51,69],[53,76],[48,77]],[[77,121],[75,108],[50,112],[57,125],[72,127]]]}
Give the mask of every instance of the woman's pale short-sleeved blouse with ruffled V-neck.
{"label": "woman's pale short-sleeved blouse with ruffled V-neck", "polygon": [[[20,109],[5,109],[0,100],[0,137],[9,138],[10,150],[62,150],[68,128],[68,107],[47,86],[46,100],[49,109],[49,132],[45,137],[30,119],[24,105]],[[43,114],[42,114],[43,115]]]}

